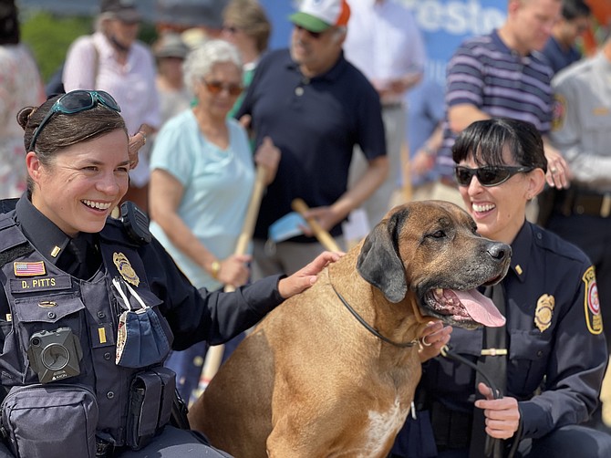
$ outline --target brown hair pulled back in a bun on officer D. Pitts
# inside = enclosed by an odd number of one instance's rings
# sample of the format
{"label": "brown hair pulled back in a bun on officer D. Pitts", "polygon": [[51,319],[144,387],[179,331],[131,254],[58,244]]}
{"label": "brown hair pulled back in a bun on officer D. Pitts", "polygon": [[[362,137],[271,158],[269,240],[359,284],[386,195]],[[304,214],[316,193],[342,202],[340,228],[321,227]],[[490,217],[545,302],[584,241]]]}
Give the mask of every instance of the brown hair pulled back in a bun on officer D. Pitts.
{"label": "brown hair pulled back in a bun on officer D. Pitts", "polygon": [[[47,99],[38,108],[26,107],[17,113],[17,122],[25,130],[26,151],[29,150],[34,131],[60,97],[61,95],[57,95]],[[51,159],[61,153],[64,148],[81,141],[93,140],[118,129],[123,130],[127,137],[128,130],[121,115],[99,103],[92,109],[75,114],[55,113],[36,139],[36,156],[43,165],[49,165]],[[30,192],[32,184],[28,179],[27,189]]]}

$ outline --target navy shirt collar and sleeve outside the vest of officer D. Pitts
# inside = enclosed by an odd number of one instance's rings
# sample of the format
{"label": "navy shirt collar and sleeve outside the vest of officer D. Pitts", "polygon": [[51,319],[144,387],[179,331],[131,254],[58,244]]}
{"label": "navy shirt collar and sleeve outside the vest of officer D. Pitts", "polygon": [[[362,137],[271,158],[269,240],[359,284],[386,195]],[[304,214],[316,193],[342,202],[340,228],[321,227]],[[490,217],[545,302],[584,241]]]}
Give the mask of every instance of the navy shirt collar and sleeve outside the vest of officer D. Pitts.
{"label": "navy shirt collar and sleeve outside the vest of officer D. Pitts", "polygon": [[[38,212],[26,195],[17,203],[16,213],[5,217],[16,220],[28,240],[48,262],[57,263],[58,267],[67,268],[67,273],[74,274],[71,267],[74,255],[65,254],[66,258],[61,255],[63,250],[72,251],[67,248],[69,237]],[[242,286],[231,294],[209,292],[205,288],[198,290],[154,238],[150,244],[138,245],[129,239],[119,221],[111,219],[102,233],[137,247],[134,255],[140,255],[141,265],[145,266],[145,271],[138,274],[146,277],[150,292],[160,299],[161,314],[168,320],[174,335],[172,349],[186,349],[202,340],[207,340],[211,345],[223,343],[254,326],[284,300],[277,287],[280,276],[269,276],[253,285]],[[99,246],[102,251],[102,245],[109,242],[105,242],[101,234],[89,234],[85,238],[89,237],[90,242],[95,244],[89,243],[87,264],[91,265],[89,268],[95,274],[100,265],[96,265],[98,255],[95,246]],[[59,255],[54,257],[52,253],[56,245]],[[0,313],[0,318],[9,313],[5,294],[0,295]]]}

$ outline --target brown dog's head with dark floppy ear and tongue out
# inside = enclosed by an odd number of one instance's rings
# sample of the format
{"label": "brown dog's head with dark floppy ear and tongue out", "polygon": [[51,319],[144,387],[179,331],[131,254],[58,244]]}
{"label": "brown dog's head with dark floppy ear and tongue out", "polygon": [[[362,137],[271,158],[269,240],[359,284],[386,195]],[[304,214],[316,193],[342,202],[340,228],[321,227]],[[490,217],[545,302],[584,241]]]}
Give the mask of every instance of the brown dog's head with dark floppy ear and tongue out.
{"label": "brown dog's head with dark floppy ear and tongue out", "polygon": [[368,234],[357,270],[398,303],[408,291],[420,311],[450,325],[502,326],[504,317],[477,291],[505,276],[512,248],[483,238],[471,216],[453,203],[407,203]]}

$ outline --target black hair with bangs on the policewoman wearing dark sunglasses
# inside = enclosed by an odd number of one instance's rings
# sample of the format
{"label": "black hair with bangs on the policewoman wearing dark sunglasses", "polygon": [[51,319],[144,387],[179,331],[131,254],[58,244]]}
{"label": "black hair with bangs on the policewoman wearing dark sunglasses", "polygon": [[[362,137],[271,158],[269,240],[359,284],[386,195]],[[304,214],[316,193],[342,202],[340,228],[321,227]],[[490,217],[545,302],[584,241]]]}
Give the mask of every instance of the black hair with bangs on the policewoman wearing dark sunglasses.
{"label": "black hair with bangs on the policewoman wearing dark sunglasses", "polygon": [[502,160],[505,148],[516,164],[547,172],[541,134],[532,123],[523,120],[494,118],[473,122],[454,142],[452,159],[459,163],[472,156],[480,166],[508,165]]}

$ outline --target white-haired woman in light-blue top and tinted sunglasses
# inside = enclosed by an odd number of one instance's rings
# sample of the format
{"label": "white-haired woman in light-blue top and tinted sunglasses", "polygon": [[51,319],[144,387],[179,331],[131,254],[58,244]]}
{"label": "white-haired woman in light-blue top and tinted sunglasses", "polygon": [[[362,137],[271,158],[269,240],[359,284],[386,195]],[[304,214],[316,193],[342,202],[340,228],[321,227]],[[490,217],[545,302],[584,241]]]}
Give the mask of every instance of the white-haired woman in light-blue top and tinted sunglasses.
{"label": "white-haired woman in light-blue top and tinted sunglasses", "polygon": [[[268,184],[280,151],[265,141],[253,160],[245,130],[227,117],[243,89],[242,61],[233,45],[211,40],[192,51],[184,78],[197,104],[168,120],[155,140],[150,231],[193,285],[243,286],[251,256],[233,251],[253,191],[254,163],[267,168]],[[171,355],[169,367],[185,400],[197,387],[204,354],[205,344]]]}

